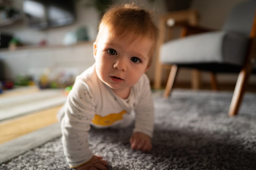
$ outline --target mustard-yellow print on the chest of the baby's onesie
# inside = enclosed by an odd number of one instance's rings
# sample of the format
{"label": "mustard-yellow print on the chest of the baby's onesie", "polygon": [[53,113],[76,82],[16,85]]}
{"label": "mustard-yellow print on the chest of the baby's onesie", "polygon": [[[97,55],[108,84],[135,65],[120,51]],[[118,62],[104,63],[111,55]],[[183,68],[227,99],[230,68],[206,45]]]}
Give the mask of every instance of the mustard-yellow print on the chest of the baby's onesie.
{"label": "mustard-yellow print on the chest of the baby's onesie", "polygon": [[126,111],[123,110],[120,113],[111,113],[106,116],[101,116],[101,115],[95,115],[94,118],[92,119],[92,123],[97,124],[97,125],[102,125],[102,126],[109,126],[113,123],[115,123],[118,120],[123,119],[123,114],[125,114]]}

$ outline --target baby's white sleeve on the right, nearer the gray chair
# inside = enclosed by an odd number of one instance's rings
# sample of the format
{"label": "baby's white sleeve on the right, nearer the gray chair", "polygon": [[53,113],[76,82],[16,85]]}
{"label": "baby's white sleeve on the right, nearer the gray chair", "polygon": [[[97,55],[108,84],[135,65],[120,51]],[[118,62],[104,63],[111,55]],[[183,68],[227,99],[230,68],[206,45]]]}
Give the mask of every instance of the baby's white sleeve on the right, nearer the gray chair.
{"label": "baby's white sleeve on the right, nearer the gray chair", "polygon": [[138,88],[135,89],[135,93],[140,95],[138,96],[138,103],[134,108],[134,132],[143,132],[152,137],[154,130],[154,103],[149,79],[146,75],[143,75],[142,80]]}

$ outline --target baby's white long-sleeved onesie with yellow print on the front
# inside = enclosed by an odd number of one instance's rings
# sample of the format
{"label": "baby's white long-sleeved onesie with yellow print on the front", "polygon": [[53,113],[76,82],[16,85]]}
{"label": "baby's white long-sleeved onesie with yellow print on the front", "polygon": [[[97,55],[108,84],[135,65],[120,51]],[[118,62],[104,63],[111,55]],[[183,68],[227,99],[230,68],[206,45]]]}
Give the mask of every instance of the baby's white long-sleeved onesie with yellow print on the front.
{"label": "baby's white long-sleeved onesie with yellow print on the front", "polygon": [[95,65],[76,77],[74,86],[63,106],[61,122],[62,144],[71,168],[90,160],[88,131],[95,127],[124,127],[133,121],[133,132],[143,132],[152,137],[154,106],[147,75],[143,74],[131,88],[127,99],[117,96],[96,75]]}

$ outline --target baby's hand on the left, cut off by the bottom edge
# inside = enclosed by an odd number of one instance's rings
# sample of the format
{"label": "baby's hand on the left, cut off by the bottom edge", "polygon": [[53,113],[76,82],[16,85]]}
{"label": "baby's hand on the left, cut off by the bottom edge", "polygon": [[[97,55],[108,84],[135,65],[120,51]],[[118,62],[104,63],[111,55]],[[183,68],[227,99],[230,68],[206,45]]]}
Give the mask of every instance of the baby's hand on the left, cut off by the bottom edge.
{"label": "baby's hand on the left, cut off by the bottom edge", "polygon": [[101,156],[94,155],[92,159],[88,160],[86,164],[77,167],[77,170],[89,170],[89,169],[99,169],[99,170],[107,170],[108,163],[102,159]]}

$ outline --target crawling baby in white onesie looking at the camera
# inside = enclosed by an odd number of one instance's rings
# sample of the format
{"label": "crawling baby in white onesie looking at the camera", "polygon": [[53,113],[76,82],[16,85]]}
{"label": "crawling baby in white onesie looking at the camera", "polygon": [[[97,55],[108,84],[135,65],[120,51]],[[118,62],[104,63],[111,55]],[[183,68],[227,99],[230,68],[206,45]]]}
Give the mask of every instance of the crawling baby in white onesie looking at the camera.
{"label": "crawling baby in white onesie looking at the camera", "polygon": [[125,4],[103,16],[93,44],[95,63],[76,77],[63,106],[62,144],[71,168],[107,169],[89,149],[90,127],[135,125],[132,149],[149,151],[154,107],[146,74],[158,39],[149,12]]}

